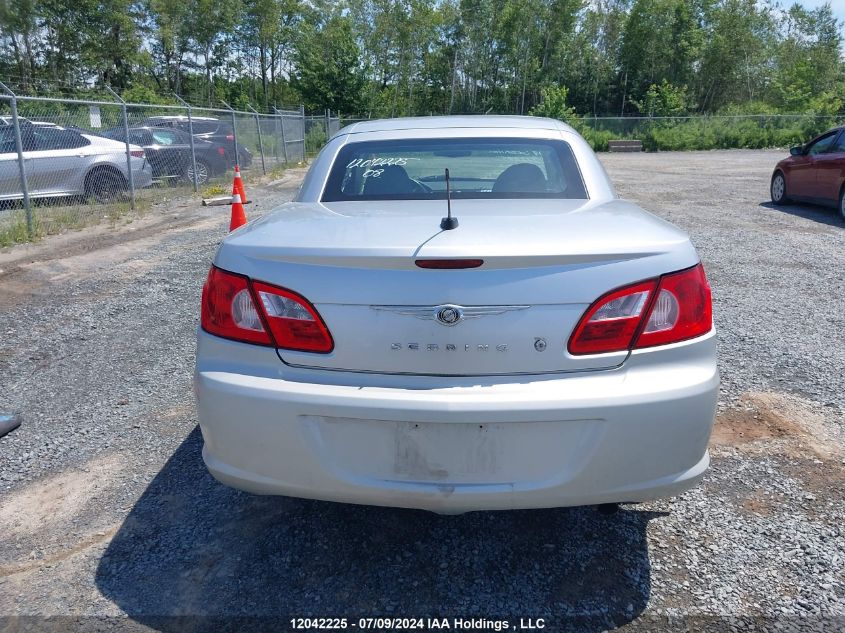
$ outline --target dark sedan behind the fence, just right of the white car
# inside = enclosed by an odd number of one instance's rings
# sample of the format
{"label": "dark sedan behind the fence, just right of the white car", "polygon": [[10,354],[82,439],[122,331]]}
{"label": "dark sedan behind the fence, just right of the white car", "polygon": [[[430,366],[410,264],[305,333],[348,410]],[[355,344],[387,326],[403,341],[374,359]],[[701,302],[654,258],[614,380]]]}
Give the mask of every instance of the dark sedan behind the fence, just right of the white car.
{"label": "dark sedan behind the fence, just right of the white car", "polygon": [[[106,130],[103,136],[116,141],[126,140],[122,127]],[[154,178],[193,180],[189,134],[170,127],[138,126],[129,128],[129,142],[144,148],[147,160],[153,167]],[[195,138],[194,152],[198,184],[204,184],[210,177],[222,174],[228,168],[225,151],[219,145]]]}

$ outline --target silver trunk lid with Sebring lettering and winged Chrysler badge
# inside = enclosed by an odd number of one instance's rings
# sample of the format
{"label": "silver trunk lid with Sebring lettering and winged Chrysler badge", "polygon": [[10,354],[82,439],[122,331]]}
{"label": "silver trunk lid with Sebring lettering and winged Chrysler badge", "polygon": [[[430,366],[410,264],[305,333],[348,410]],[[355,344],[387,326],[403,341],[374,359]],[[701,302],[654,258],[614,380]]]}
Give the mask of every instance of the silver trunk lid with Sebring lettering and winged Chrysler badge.
{"label": "silver trunk lid with Sebring lettering and winged Chrysler badge", "polygon": [[[514,215],[514,204],[525,213]],[[697,261],[686,235],[623,201],[461,200],[452,231],[439,228],[443,210],[436,201],[293,203],[232,235],[216,263],[314,304],[334,350],[280,350],[285,363],[496,375],[618,366],[626,352],[567,352],[587,307]],[[417,264],[455,258],[483,264]]]}

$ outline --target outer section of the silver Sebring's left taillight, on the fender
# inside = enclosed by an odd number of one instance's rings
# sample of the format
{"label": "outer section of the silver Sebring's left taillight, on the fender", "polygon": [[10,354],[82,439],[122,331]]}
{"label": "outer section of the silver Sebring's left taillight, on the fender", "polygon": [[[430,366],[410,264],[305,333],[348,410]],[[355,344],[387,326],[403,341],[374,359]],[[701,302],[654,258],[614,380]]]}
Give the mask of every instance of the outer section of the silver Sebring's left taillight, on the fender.
{"label": "outer section of the silver Sebring's left taillight, on the fender", "polygon": [[202,329],[257,345],[272,345],[249,288],[249,279],[214,266],[202,287]]}

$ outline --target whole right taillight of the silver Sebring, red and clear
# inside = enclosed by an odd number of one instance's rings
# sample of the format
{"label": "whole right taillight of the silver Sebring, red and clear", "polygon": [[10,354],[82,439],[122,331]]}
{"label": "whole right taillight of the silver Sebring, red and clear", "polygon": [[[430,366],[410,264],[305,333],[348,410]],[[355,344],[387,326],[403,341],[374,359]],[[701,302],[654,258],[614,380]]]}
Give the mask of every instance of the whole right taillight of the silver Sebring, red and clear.
{"label": "whole right taillight of the silver Sebring, red and clear", "polygon": [[569,353],[602,354],[677,343],[713,327],[710,285],[701,264],[600,297],[581,318]]}

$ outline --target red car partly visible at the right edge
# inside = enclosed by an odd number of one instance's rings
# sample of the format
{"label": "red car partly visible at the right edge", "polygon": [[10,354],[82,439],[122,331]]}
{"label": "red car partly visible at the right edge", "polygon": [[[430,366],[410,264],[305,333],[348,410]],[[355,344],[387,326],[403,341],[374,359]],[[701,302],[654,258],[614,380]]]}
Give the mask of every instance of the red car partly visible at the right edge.
{"label": "red car partly visible at the right edge", "polygon": [[845,220],[845,127],[789,150],[772,174],[772,202],[836,205]]}

